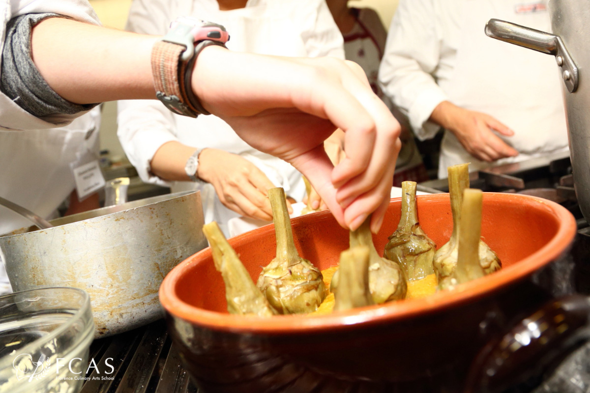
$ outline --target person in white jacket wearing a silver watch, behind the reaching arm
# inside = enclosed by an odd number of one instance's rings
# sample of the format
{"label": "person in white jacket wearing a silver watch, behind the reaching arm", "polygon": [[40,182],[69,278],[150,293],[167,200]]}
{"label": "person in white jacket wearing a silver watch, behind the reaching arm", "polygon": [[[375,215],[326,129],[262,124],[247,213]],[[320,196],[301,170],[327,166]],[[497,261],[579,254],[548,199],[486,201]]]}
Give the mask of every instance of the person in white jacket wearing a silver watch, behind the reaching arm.
{"label": "person in white jacket wearing a silver watch, behind the reaching arm", "polygon": [[[342,35],[323,0],[135,0],[126,29],[165,34],[180,15],[224,25],[231,51],[344,58]],[[117,134],[142,180],[173,192],[201,190],[205,223],[216,221],[226,236],[234,217],[272,220],[267,189],[283,187],[295,201],[304,197],[299,171],[249,146],[217,116],[189,118],[150,101],[118,107]],[[193,156],[198,167],[187,173]]]}

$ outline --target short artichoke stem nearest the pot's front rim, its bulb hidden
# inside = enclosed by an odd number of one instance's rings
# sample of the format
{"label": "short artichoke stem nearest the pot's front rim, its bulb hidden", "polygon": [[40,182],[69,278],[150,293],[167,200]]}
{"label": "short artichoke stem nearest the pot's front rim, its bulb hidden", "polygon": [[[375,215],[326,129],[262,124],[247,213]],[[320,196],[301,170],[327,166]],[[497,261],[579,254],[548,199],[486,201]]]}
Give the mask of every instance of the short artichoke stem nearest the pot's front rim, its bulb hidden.
{"label": "short artichoke stem nearest the pot's front rim, its bulb hidden", "polygon": [[340,290],[335,293],[334,311],[375,304],[369,291],[369,247],[352,247],[340,253]]}

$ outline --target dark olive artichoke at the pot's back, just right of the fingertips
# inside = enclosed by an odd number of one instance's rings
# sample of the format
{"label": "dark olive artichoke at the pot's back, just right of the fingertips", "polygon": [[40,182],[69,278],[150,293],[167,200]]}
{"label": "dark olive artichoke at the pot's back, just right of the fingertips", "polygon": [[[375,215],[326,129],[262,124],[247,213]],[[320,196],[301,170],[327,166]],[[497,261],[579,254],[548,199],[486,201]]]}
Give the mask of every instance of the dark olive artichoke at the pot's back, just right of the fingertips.
{"label": "dark olive artichoke at the pot's back, just right of the fingertips", "polygon": [[416,182],[402,182],[402,216],[398,229],[389,236],[383,256],[398,262],[407,280],[419,280],[434,273],[432,257],[436,245],[418,223]]}

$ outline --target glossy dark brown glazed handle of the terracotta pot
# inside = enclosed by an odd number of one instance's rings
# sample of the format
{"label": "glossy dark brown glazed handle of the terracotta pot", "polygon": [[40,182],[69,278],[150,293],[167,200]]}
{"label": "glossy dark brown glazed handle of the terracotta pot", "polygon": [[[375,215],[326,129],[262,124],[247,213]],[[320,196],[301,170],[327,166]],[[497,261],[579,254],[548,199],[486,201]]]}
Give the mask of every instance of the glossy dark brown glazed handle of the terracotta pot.
{"label": "glossy dark brown glazed handle of the terracotta pot", "polygon": [[589,322],[590,297],[576,294],[551,300],[481,349],[471,365],[465,392],[501,392],[515,381],[534,377],[564,349],[590,338]]}

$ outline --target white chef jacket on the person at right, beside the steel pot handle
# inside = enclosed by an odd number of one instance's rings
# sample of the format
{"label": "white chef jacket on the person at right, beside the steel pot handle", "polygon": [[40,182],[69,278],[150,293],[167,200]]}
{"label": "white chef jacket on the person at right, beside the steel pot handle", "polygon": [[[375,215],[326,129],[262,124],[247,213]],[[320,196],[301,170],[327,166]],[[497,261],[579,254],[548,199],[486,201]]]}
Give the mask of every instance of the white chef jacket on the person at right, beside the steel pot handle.
{"label": "white chef jacket on the person at right, beside the steel pot handle", "polygon": [[[421,140],[437,133],[440,127],[428,118],[448,100],[514,130],[514,136],[500,137],[520,154],[497,164],[567,151],[555,58],[487,37],[490,18],[551,29],[546,0],[401,0],[379,70],[383,89],[407,112]],[[447,177],[448,166],[464,162],[471,162],[470,169],[490,166],[445,131],[438,176]]]}

